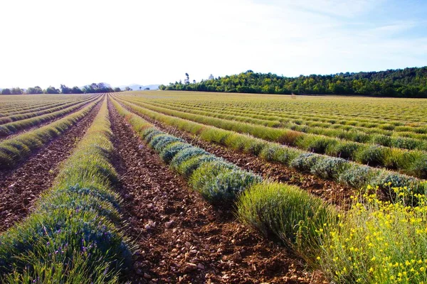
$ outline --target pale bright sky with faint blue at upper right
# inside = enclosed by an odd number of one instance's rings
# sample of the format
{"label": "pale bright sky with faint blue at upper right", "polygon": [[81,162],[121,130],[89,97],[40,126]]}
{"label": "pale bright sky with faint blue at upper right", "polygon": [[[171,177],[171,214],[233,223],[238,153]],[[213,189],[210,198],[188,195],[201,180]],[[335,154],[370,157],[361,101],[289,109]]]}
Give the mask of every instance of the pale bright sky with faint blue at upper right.
{"label": "pale bright sky with faint blue at upper right", "polygon": [[425,0],[14,0],[0,11],[0,87],[427,65]]}

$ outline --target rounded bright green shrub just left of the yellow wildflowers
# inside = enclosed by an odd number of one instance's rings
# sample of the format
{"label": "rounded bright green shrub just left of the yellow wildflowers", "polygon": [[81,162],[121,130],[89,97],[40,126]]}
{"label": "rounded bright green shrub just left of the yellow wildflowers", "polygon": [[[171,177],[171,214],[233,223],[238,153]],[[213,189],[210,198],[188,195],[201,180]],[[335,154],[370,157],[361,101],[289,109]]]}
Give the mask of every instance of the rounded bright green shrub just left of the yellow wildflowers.
{"label": "rounded bright green shrub just left of the yellow wildflowers", "polygon": [[336,218],[334,209],[320,198],[278,183],[253,185],[236,204],[243,223],[277,237],[309,261],[319,253],[317,229]]}

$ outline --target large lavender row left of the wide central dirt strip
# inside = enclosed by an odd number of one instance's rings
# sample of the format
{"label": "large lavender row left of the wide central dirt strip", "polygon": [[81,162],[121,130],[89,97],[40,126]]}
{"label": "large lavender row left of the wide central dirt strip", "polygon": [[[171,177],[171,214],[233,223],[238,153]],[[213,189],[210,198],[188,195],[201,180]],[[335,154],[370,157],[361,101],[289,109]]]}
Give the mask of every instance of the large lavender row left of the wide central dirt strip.
{"label": "large lavender row left of the wide central dirt strip", "polygon": [[120,283],[132,246],[117,229],[106,100],[33,213],[0,235],[2,283]]}

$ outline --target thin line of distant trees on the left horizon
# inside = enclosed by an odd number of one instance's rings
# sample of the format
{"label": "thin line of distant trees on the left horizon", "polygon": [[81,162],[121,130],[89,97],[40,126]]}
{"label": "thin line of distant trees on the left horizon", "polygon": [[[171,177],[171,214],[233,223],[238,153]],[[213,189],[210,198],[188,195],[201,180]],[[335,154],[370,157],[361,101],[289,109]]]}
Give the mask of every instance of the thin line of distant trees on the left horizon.
{"label": "thin line of distant trees on the left horizon", "polygon": [[[129,87],[126,87],[126,91],[131,90]],[[57,89],[56,87],[49,86],[46,89],[41,89],[41,87],[29,87],[26,89],[26,92],[23,91],[23,89],[16,87],[11,89],[2,89],[1,94],[92,94],[92,93],[107,93],[107,92],[121,92],[122,89],[119,87],[115,87],[114,89],[112,87],[107,86],[104,83],[92,83],[88,84],[83,88],[79,87],[67,87],[65,84],[61,84],[60,88]]]}

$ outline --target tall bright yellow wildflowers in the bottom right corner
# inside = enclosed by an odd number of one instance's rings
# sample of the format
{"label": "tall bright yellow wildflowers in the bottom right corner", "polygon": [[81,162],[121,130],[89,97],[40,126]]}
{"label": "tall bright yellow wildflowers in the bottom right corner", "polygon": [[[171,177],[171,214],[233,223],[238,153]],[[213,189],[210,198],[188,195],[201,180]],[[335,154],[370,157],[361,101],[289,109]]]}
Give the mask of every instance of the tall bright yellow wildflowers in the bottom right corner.
{"label": "tall bright yellow wildflowers in the bottom right corner", "polygon": [[426,198],[392,190],[391,202],[352,197],[352,209],[325,230],[317,261],[337,283],[427,283]]}

